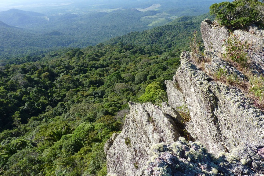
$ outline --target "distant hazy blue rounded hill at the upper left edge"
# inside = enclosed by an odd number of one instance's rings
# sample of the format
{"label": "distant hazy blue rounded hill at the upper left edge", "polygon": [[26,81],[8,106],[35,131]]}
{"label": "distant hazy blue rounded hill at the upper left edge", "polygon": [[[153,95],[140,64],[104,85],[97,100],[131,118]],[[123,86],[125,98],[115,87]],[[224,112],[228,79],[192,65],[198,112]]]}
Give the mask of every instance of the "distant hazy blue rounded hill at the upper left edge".
{"label": "distant hazy blue rounded hill at the upper left edge", "polygon": [[47,21],[44,14],[18,9],[0,12],[0,20],[11,26],[26,26]]}

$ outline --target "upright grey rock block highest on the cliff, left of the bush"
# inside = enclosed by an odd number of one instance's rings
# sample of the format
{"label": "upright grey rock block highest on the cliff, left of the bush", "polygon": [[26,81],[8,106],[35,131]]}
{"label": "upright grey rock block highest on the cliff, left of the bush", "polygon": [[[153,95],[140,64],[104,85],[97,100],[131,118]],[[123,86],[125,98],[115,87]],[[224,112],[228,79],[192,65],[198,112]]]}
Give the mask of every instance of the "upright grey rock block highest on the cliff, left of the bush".
{"label": "upright grey rock block highest on the cliff, left of the bush", "polygon": [[201,23],[201,33],[206,50],[215,53],[225,52],[225,48],[222,47],[223,40],[229,36],[226,27],[220,27],[215,21],[206,19]]}

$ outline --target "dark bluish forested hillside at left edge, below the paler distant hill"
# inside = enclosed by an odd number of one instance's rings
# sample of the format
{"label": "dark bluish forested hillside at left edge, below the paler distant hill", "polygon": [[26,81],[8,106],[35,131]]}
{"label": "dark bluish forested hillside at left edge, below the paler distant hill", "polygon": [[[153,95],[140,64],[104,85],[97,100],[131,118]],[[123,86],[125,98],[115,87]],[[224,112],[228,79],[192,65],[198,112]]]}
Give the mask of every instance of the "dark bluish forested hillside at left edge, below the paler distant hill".
{"label": "dark bluish forested hillside at left edge, below the paler distant hill", "polygon": [[65,38],[63,33],[50,31],[37,34],[0,21],[0,60],[17,56],[38,55],[74,43],[73,38]]}

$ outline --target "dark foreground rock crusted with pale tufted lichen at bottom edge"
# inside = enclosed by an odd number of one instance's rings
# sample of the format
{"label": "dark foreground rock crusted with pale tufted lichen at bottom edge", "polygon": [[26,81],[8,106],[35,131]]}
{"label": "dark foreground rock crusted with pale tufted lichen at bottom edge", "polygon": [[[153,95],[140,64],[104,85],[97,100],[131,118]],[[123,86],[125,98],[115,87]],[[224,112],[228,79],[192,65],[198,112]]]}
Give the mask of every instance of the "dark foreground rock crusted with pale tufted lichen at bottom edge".
{"label": "dark foreground rock crusted with pale tufted lichen at bottom edge", "polygon": [[255,175],[230,154],[215,158],[199,142],[186,142],[184,138],[172,145],[153,147],[154,157],[148,161],[142,175],[193,176],[193,175]]}

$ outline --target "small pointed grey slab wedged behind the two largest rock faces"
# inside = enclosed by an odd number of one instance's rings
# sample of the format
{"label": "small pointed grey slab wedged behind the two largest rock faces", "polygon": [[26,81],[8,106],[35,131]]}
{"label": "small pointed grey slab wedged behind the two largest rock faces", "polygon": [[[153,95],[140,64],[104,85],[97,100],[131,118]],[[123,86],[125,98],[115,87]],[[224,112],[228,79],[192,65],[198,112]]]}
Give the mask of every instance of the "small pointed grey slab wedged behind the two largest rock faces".
{"label": "small pointed grey slab wedged behind the two largest rock faces", "polygon": [[185,105],[183,93],[178,90],[174,81],[165,81],[167,87],[168,104],[174,109]]}

